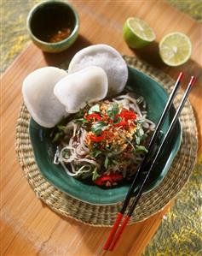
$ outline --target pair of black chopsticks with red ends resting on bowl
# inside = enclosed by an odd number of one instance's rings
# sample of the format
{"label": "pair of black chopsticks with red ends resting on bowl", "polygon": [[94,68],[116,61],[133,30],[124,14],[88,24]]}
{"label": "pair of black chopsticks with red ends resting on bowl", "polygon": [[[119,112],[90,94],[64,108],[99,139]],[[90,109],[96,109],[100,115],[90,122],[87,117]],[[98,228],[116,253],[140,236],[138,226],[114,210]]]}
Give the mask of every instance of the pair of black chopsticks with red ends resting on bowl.
{"label": "pair of black chopsticks with red ends resting on bowl", "polygon": [[[184,92],[184,95],[182,97],[182,101],[179,104],[178,109],[176,110],[176,114],[173,117],[172,122],[170,123],[170,127],[169,127],[168,131],[166,132],[166,134],[164,135],[164,139],[160,143],[159,148],[156,150],[156,152],[154,154],[152,164],[149,164],[149,166],[148,166],[148,164],[147,164],[148,159],[151,158],[151,155],[152,155],[152,152],[153,152],[153,147],[155,146],[155,143],[158,139],[160,130],[161,130],[163,124],[164,124],[165,117],[167,116],[167,114],[170,110],[170,106],[173,103],[173,99],[175,98],[176,92],[177,92],[177,90],[178,90],[178,88],[179,88],[179,86],[182,82],[182,77],[183,77],[183,74],[181,72],[177,77],[176,84],[173,88],[173,91],[170,94],[170,97],[167,101],[167,104],[164,107],[164,111],[163,111],[162,115],[159,118],[159,122],[158,122],[158,124],[155,128],[152,139],[150,140],[149,145],[147,146],[147,154],[146,154],[145,158],[143,159],[143,162],[142,162],[140,168],[136,172],[136,176],[134,177],[134,180],[133,180],[133,182],[130,186],[130,189],[129,189],[127,195],[126,195],[126,198],[124,199],[124,205],[122,206],[121,211],[118,212],[117,218],[116,218],[115,222],[113,223],[113,228],[111,229],[111,232],[108,235],[107,241],[106,241],[106,243],[103,247],[104,250],[113,251],[113,248],[116,246],[120,236],[122,235],[122,233],[124,231],[125,226],[130,221],[130,217],[131,217],[133,211],[135,210],[139,199],[141,198],[141,194],[143,192],[143,188],[145,186],[145,183],[147,182],[147,178],[150,175],[151,170],[153,170],[153,166],[156,164],[160,152],[162,152],[162,150],[164,149],[165,143],[167,142],[167,139],[170,137],[170,133],[171,133],[172,129],[175,127],[178,116],[180,115],[180,113],[182,111],[182,108],[183,108],[183,106],[184,106],[184,104],[185,104],[185,102],[188,98],[188,94],[191,91],[191,88],[192,88],[193,83],[195,81],[195,78],[193,76],[191,76],[191,79],[188,83],[188,87],[187,87],[187,89]],[[134,197],[134,190],[136,188],[137,177],[139,177],[142,173],[145,174],[144,180],[141,182],[141,187],[138,188],[138,190],[136,191],[135,199],[133,199],[129,210],[127,211],[127,214],[124,216],[124,213],[125,213],[128,205],[129,205],[129,203],[130,203],[130,199],[132,197]],[[123,222],[121,223],[122,219],[123,219]]]}

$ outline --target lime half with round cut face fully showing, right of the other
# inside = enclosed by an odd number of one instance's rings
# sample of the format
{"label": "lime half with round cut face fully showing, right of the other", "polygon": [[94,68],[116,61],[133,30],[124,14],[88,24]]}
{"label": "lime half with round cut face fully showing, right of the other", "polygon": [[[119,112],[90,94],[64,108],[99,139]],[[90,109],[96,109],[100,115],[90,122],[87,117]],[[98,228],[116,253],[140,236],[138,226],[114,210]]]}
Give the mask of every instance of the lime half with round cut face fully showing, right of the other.
{"label": "lime half with round cut face fully showing, right of the other", "polygon": [[176,67],[188,61],[192,43],[184,33],[168,33],[159,43],[159,53],[165,64]]}

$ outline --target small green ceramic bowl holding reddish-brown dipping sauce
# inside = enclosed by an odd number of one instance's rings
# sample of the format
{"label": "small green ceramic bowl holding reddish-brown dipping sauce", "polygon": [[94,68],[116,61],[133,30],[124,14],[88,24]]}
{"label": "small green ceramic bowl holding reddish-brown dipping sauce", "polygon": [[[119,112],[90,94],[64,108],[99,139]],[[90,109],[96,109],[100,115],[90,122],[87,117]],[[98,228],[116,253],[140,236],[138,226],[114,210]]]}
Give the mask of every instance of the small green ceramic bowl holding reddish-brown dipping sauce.
{"label": "small green ceramic bowl holding reddish-brown dipping sauce", "polygon": [[26,27],[33,43],[42,51],[60,52],[78,38],[79,17],[69,3],[49,0],[33,7]]}

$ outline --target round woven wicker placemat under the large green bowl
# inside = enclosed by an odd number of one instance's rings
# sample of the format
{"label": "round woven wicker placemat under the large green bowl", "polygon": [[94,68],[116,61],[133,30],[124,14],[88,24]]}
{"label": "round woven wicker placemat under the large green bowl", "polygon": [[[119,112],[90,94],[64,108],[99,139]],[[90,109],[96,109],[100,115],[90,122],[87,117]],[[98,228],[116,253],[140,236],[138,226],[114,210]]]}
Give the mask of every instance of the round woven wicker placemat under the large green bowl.
{"label": "round woven wicker placemat under the large green bowl", "polygon": [[[135,57],[124,57],[124,59],[130,66],[157,80],[170,93],[175,82],[168,75],[147,63],[142,63]],[[66,63],[63,67],[67,67]],[[181,98],[182,91],[180,90],[174,104],[179,104]],[[183,129],[181,148],[163,182],[152,192],[141,196],[136,211],[130,218],[130,223],[140,222],[160,211],[188,181],[197,155],[197,129],[189,102],[185,104],[182,110],[180,121]],[[82,223],[94,226],[113,225],[121,203],[117,205],[90,205],[66,195],[43,178],[34,159],[29,138],[29,122],[30,115],[26,106],[22,104],[16,128],[16,152],[26,179],[38,198],[62,216],[72,217]]]}

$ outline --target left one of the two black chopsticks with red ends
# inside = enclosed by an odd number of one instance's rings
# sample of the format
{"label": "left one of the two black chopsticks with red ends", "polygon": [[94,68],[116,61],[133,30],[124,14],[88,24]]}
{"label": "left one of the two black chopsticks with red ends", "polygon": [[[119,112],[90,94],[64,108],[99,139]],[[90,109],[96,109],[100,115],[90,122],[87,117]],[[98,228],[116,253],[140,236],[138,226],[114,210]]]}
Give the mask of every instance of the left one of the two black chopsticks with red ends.
{"label": "left one of the two black chopsticks with red ends", "polygon": [[145,168],[147,159],[149,157],[149,152],[152,150],[153,145],[155,144],[155,142],[156,142],[156,140],[157,140],[157,138],[159,136],[160,129],[162,128],[162,125],[164,123],[164,119],[167,116],[168,111],[170,110],[170,106],[172,104],[173,98],[176,96],[176,92],[177,92],[177,90],[178,90],[178,88],[180,86],[180,83],[182,81],[182,77],[183,77],[183,73],[181,72],[180,74],[178,74],[178,77],[177,77],[177,80],[176,80],[176,84],[175,84],[172,92],[170,93],[170,98],[168,99],[167,104],[164,107],[164,111],[163,111],[162,115],[159,118],[159,122],[157,124],[157,127],[156,127],[156,129],[155,129],[155,131],[153,133],[152,139],[149,142],[149,145],[147,147],[148,153],[146,154],[145,158],[143,159],[143,162],[142,162],[140,168],[137,170],[136,176],[133,179],[133,182],[132,182],[132,184],[130,186],[130,189],[129,189],[127,195],[126,195],[126,198],[124,199],[124,205],[122,206],[121,211],[118,212],[118,216],[117,216],[115,222],[113,223],[113,228],[111,229],[111,232],[110,232],[110,234],[109,234],[109,236],[107,238],[107,241],[106,241],[106,243],[105,243],[105,245],[103,247],[104,250],[108,250],[108,248],[110,247],[111,242],[113,241],[113,236],[115,235],[115,233],[116,233],[116,231],[118,229],[118,225],[121,223],[121,220],[122,220],[122,218],[124,216],[124,212],[125,212],[128,204],[129,204],[129,202],[130,202],[131,197],[133,196],[134,189],[136,188],[136,179],[137,179],[137,177],[141,174],[141,172]]}

